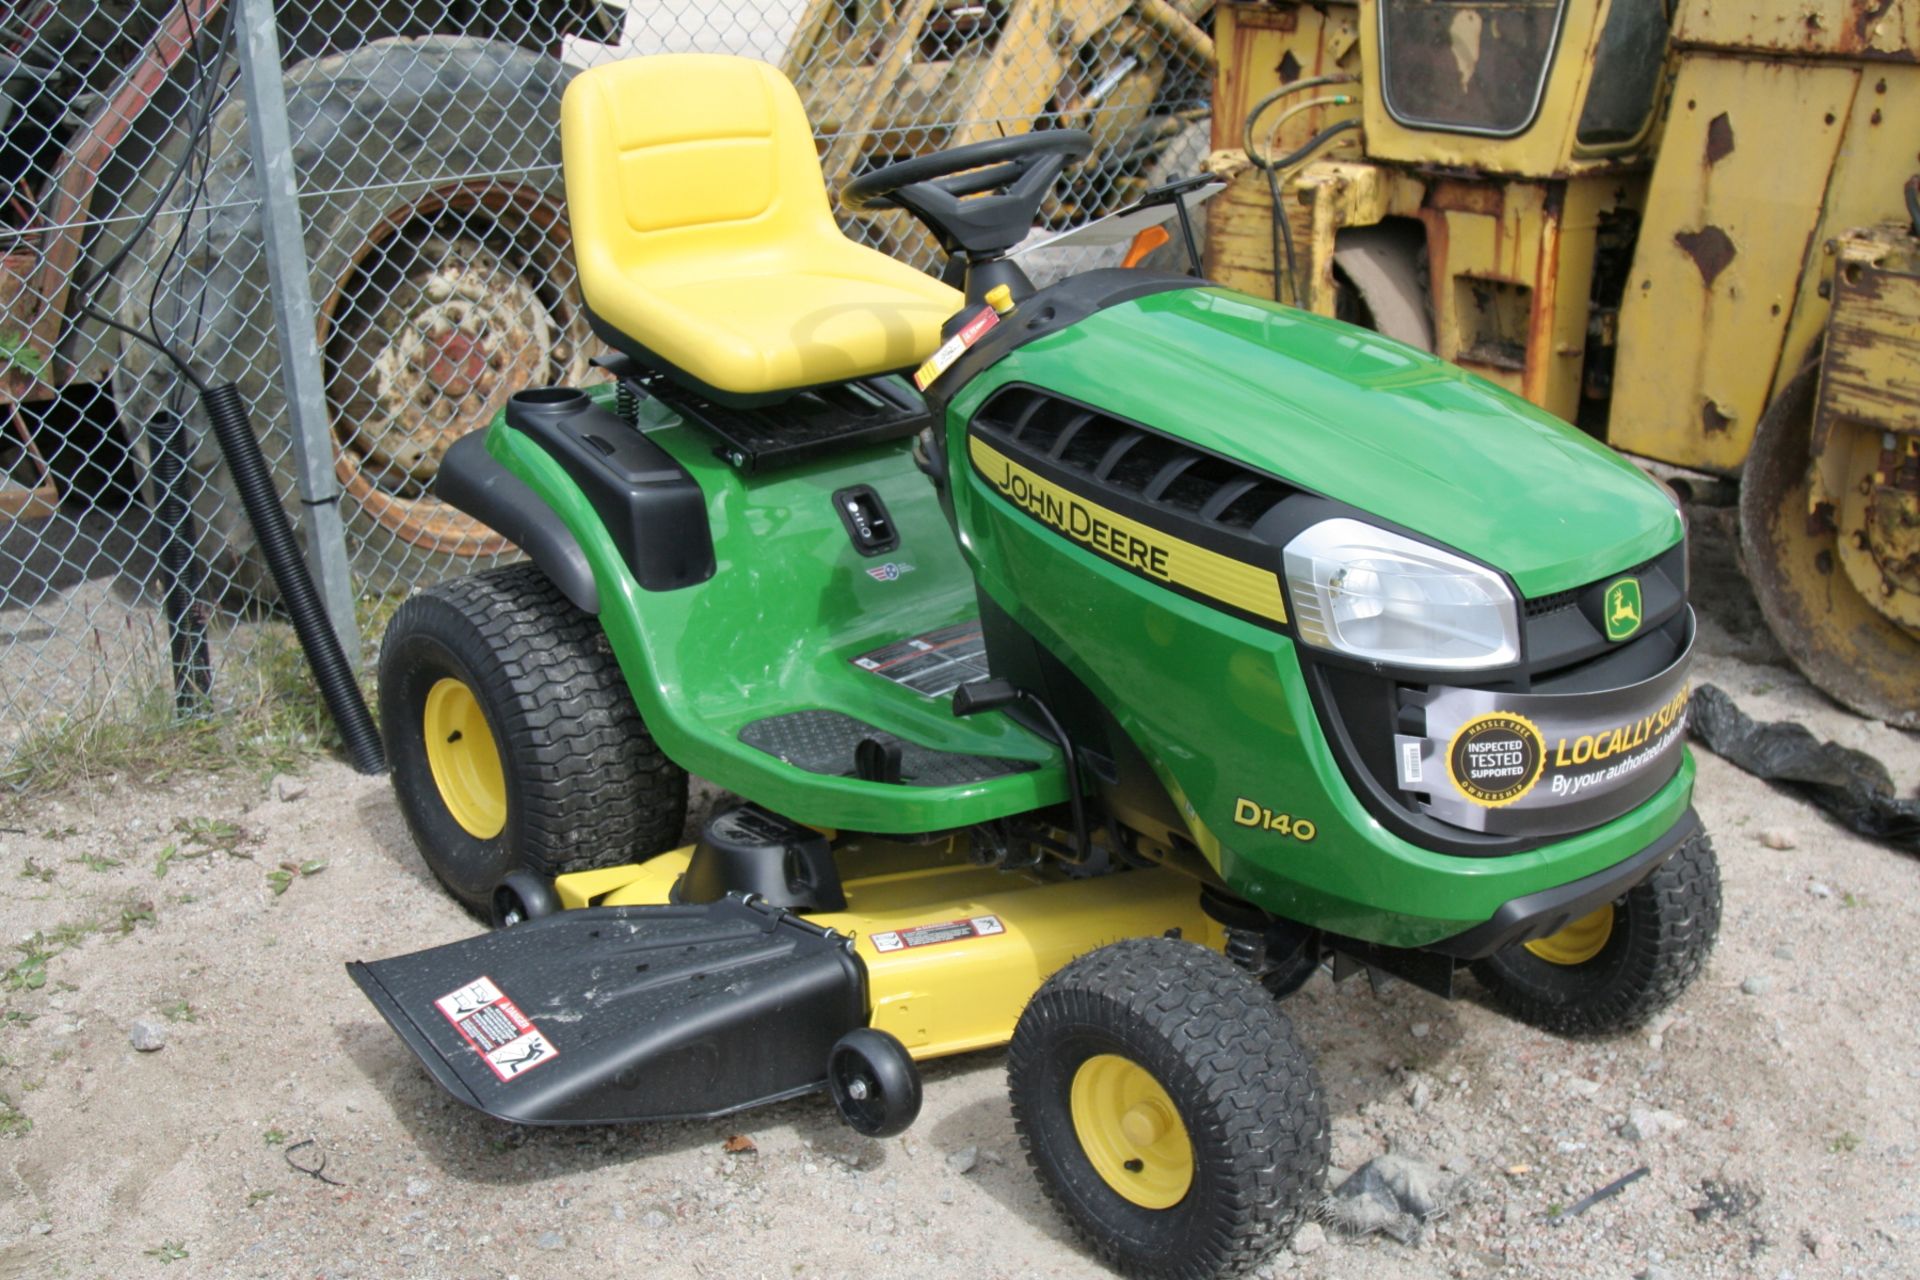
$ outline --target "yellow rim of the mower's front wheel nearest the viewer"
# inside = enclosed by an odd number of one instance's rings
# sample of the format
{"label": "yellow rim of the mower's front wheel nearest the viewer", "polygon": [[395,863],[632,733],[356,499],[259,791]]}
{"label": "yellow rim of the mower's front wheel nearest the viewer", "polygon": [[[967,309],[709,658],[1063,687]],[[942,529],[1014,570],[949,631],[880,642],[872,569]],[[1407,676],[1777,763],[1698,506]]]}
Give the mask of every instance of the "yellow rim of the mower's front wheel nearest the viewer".
{"label": "yellow rim of the mower's front wheel nearest the viewer", "polygon": [[1194,1180],[1181,1113],[1144,1067],[1098,1054],[1073,1073],[1073,1134],[1094,1173],[1142,1209],[1171,1209]]}

